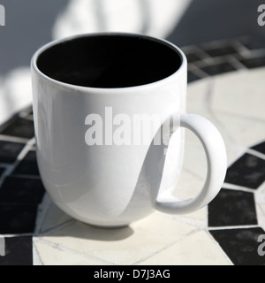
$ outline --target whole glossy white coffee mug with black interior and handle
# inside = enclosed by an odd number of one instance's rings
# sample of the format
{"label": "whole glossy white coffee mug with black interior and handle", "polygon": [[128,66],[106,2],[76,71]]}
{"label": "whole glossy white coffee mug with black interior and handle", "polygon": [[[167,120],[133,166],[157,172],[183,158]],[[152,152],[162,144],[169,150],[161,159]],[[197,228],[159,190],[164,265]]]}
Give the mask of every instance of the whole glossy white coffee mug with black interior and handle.
{"label": "whole glossy white coffee mug with black interior and handle", "polygon": [[[216,197],[226,151],[208,119],[186,113],[186,73],[178,47],[143,34],[82,34],[34,54],[37,160],[59,208],[93,226],[120,227],[155,209],[199,210]],[[199,195],[178,200],[171,192],[184,128],[201,140],[208,174]]]}

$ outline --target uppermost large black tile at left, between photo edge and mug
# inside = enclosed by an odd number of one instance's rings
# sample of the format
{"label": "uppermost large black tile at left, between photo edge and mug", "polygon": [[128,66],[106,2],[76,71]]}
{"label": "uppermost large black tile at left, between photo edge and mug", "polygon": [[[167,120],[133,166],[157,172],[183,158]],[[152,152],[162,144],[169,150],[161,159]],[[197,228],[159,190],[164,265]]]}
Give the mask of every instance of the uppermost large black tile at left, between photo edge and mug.
{"label": "uppermost large black tile at left, between photo edge and mug", "polygon": [[0,134],[31,139],[34,137],[34,122],[22,118],[12,119],[9,123],[5,124]]}

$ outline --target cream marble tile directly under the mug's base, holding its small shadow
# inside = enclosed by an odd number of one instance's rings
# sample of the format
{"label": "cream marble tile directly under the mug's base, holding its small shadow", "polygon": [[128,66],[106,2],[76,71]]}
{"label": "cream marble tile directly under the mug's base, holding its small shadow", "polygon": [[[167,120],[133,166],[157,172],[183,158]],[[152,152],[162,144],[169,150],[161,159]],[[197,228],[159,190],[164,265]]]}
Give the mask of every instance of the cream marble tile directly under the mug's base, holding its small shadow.
{"label": "cream marble tile directly under the mug's base, holding its small shadow", "polygon": [[195,229],[155,212],[124,229],[104,230],[76,222],[41,239],[108,263],[133,264]]}

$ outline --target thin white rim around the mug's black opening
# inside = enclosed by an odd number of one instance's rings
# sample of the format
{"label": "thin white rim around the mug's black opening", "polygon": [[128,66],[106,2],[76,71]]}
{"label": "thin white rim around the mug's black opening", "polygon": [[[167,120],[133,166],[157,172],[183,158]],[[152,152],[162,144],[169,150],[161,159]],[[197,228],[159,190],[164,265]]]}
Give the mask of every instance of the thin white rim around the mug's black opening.
{"label": "thin white rim around the mug's black opening", "polygon": [[[147,39],[150,41],[155,41],[155,42],[159,42],[162,44],[165,44],[167,46],[169,46],[172,50],[175,50],[178,53],[178,56],[180,57],[180,66],[178,67],[178,70],[172,74],[170,74],[170,76],[162,79],[162,80],[156,80],[154,82],[151,83],[147,83],[144,85],[139,85],[139,86],[133,86],[133,87],[124,87],[124,88],[93,88],[93,87],[84,87],[84,86],[79,86],[79,85],[74,85],[71,83],[67,83],[67,82],[63,82],[60,80],[55,80],[53,78],[50,78],[47,74],[43,73],[40,68],[37,65],[37,61],[38,58],[42,55],[43,52],[45,52],[46,50],[49,50],[49,48],[52,48],[60,43],[64,43],[64,42],[71,42],[75,39],[79,39],[82,37],[95,37],[95,36],[111,36],[111,35],[120,35],[120,36],[132,36],[132,37],[141,37],[143,39]],[[178,46],[176,46],[175,44],[173,44],[172,42],[169,42],[165,39],[162,38],[156,38],[154,36],[150,36],[147,34],[133,34],[133,33],[116,33],[116,32],[104,32],[104,33],[91,33],[91,34],[76,34],[76,35],[72,35],[72,36],[68,36],[65,37],[63,39],[58,39],[52,42],[49,42],[47,44],[44,44],[39,50],[36,50],[32,59],[31,59],[31,68],[32,70],[34,70],[35,73],[37,73],[39,76],[42,77],[43,80],[48,80],[49,82],[57,85],[57,86],[61,86],[64,88],[70,88],[70,89],[74,89],[74,90],[80,90],[80,91],[93,91],[93,92],[97,92],[97,93],[108,93],[110,91],[127,91],[127,90],[136,90],[136,89],[143,89],[143,88],[153,88],[153,87],[158,87],[159,85],[163,84],[163,83],[167,83],[169,80],[175,79],[175,77],[178,75],[178,73],[182,73],[183,69],[186,68],[187,65],[187,61],[186,61],[186,56],[184,54],[184,52],[182,50],[180,50],[178,48]]]}

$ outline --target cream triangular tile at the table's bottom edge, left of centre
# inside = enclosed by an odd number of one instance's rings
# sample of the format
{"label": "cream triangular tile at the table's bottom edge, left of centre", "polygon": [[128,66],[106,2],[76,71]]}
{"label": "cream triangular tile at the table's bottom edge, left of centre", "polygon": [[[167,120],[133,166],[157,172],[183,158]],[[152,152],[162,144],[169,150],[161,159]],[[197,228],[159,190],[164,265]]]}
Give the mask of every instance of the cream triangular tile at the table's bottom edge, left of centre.
{"label": "cream triangular tile at the table's bottom edge, left of centre", "polygon": [[38,260],[34,260],[34,265],[105,265],[93,258],[80,256],[38,240],[34,241],[34,249],[39,256]]}

